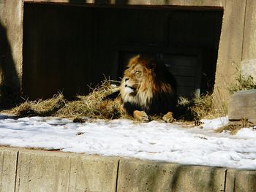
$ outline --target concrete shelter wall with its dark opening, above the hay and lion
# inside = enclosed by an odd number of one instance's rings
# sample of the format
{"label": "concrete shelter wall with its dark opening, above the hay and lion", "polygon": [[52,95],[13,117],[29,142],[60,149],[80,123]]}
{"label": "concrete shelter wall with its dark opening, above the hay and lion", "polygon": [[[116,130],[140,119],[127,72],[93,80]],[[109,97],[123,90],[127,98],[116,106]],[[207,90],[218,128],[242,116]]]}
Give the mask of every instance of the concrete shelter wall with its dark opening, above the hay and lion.
{"label": "concrete shelter wall with its dark opening, above the hay and lion", "polygon": [[[178,93],[227,87],[241,62],[255,58],[253,0],[1,0],[1,84],[30,99],[121,77],[129,56],[162,53]],[[4,44],[2,44],[4,45]]]}

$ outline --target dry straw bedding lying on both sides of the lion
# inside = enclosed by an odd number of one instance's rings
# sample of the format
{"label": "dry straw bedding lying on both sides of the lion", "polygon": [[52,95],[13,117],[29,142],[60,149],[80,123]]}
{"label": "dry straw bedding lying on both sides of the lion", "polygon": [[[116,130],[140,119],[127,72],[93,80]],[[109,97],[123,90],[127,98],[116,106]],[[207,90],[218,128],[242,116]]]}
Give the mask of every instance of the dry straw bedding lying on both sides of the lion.
{"label": "dry straw bedding lying on both sides of the lion", "polygon": [[[120,99],[113,93],[118,93],[119,88],[114,87],[110,80],[103,81],[86,96],[77,96],[74,101],[67,101],[62,93],[47,100],[25,101],[10,112],[18,117],[30,116],[58,116],[72,118],[82,122],[85,118],[116,119],[131,118],[121,110]],[[206,94],[193,99],[179,97],[177,106],[177,120],[200,120],[214,117],[212,110],[212,95]],[[161,120],[162,116],[151,116],[150,120]]]}

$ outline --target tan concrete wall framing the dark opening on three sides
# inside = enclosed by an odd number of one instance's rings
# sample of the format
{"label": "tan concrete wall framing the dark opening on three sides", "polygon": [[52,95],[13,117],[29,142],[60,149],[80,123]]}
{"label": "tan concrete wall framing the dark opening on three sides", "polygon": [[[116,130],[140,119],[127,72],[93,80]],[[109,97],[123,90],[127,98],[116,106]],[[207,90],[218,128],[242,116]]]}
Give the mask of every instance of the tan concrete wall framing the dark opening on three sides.
{"label": "tan concrete wall framing the dark opening on three sides", "polygon": [[[6,35],[10,45],[10,53],[6,55],[12,61],[5,59],[1,62],[1,82],[4,74],[8,72],[15,75],[5,75],[8,83],[15,82],[19,87],[22,83],[22,24],[23,24],[23,2],[43,2],[43,0],[0,0],[1,28],[6,28]],[[241,61],[254,59],[256,57],[256,2],[254,0],[159,0],[159,1],[99,1],[99,0],[45,0],[45,2],[56,2],[60,4],[117,4],[119,5],[173,5],[202,7],[202,9],[224,9],[222,33],[219,42],[219,55],[217,60],[217,71],[214,86],[216,106],[222,109],[227,104],[230,94],[227,88],[235,80]],[[12,22],[11,22],[12,21]],[[3,30],[1,30],[3,31]],[[7,51],[8,52],[8,51]],[[6,70],[4,67],[6,66]],[[6,72],[4,72],[6,71]],[[13,78],[16,80],[13,81]]]}

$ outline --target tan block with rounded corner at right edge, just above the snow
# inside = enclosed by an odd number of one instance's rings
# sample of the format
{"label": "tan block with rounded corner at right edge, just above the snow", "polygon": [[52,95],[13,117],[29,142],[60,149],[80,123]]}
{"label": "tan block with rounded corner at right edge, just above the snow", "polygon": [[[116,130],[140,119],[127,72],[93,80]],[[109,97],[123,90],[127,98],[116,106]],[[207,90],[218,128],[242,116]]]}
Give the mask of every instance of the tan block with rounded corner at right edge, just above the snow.
{"label": "tan block with rounded corner at right edge, just above the snow", "polygon": [[256,124],[256,90],[238,91],[234,93],[228,105],[230,120],[248,119]]}

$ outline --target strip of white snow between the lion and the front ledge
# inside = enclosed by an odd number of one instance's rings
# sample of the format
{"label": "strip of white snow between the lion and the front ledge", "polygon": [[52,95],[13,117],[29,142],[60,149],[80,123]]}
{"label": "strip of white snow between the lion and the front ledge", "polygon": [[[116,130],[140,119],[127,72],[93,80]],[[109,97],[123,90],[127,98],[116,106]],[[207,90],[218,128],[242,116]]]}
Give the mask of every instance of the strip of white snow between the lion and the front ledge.
{"label": "strip of white snow between the lion and the front ledge", "polygon": [[0,145],[256,169],[256,127],[242,128],[232,136],[228,131],[214,131],[227,124],[227,117],[202,121],[203,128],[157,121],[72,123],[60,118],[0,115]]}

